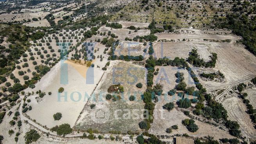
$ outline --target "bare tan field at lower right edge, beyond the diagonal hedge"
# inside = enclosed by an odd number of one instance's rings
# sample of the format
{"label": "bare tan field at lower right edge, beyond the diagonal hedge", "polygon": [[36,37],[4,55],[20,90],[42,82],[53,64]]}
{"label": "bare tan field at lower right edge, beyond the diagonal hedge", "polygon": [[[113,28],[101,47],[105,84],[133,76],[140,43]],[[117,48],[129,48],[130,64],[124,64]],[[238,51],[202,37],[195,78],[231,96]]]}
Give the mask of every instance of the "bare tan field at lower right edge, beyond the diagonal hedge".
{"label": "bare tan field at lower right edge, beyond the diagonal hedge", "polygon": [[237,121],[240,124],[241,134],[251,139],[256,139],[256,129],[251,122],[249,115],[246,113],[246,106],[239,98],[232,97],[222,103],[223,107],[227,110],[228,119]]}

